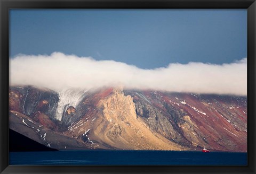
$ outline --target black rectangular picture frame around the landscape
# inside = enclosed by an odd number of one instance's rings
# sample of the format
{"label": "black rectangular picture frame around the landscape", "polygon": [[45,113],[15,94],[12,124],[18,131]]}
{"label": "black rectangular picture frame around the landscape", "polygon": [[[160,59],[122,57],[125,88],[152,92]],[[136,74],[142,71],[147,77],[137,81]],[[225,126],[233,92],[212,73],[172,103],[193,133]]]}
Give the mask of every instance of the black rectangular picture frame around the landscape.
{"label": "black rectangular picture frame around the landscape", "polygon": [[[255,0],[0,0],[1,173],[255,173]],[[245,8],[247,9],[247,166],[9,166],[9,10],[11,8]]]}

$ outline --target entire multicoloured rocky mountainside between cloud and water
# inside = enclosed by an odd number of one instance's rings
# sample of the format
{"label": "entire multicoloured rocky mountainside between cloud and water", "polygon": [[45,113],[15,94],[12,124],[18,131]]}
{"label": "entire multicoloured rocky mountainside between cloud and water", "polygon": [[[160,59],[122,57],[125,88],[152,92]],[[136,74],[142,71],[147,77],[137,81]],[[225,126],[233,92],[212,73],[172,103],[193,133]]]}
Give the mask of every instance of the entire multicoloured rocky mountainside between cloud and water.
{"label": "entire multicoloured rocky mountainside between cloud and water", "polygon": [[31,86],[9,96],[10,127],[57,149],[247,150],[246,97]]}

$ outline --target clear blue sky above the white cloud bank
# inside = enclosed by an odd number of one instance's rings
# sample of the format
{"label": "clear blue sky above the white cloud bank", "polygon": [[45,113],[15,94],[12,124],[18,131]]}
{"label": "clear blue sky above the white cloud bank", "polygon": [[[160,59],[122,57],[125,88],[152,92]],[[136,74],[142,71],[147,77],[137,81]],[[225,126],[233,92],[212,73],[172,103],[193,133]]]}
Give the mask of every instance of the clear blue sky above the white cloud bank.
{"label": "clear blue sky above the white cloud bank", "polygon": [[247,57],[246,10],[10,10],[10,56],[54,51],[139,68]]}

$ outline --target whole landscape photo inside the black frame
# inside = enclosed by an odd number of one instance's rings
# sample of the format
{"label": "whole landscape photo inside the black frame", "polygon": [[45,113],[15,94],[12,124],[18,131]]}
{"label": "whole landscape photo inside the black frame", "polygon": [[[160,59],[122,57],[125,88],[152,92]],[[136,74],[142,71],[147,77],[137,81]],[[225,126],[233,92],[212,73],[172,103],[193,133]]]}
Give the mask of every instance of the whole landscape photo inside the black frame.
{"label": "whole landscape photo inside the black frame", "polygon": [[247,11],[12,9],[10,165],[247,165]]}

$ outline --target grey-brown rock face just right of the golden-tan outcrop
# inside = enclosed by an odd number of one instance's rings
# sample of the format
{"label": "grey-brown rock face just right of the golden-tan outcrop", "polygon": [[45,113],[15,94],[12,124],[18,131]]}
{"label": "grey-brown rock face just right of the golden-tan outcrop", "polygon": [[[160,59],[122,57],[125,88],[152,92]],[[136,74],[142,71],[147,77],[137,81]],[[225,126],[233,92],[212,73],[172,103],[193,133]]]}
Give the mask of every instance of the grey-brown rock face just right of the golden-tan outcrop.
{"label": "grey-brown rock face just right of the golden-tan outcrop", "polygon": [[189,146],[190,143],[177,127],[177,120],[185,116],[186,112],[177,110],[166,103],[162,103],[160,107],[159,96],[153,92],[149,93],[153,99],[148,98],[143,91],[125,91],[125,93],[133,97],[137,116],[141,117],[152,131],[162,134],[171,141]]}

